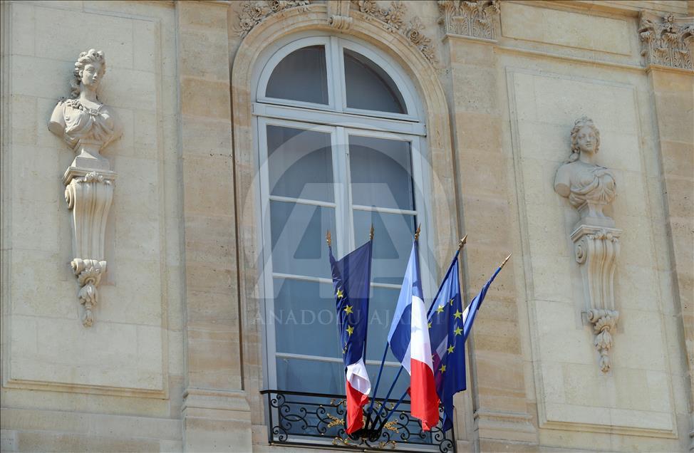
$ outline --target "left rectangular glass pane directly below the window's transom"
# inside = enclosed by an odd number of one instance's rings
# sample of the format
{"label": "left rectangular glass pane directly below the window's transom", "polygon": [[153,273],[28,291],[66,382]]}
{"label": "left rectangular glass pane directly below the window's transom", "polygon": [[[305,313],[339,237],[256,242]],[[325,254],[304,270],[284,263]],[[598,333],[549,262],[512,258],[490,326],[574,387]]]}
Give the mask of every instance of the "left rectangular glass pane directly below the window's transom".
{"label": "left rectangular glass pane directly below the window's transom", "polygon": [[268,125],[267,154],[271,194],[333,201],[330,134]]}

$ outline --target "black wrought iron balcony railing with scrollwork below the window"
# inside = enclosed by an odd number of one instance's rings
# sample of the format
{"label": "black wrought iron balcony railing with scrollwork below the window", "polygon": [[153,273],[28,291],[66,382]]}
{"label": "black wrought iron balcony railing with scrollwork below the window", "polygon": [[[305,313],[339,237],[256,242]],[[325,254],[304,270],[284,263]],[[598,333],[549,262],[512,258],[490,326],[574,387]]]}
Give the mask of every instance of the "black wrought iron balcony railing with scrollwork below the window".
{"label": "black wrought iron balcony railing with scrollwork below the window", "polygon": [[[431,431],[423,431],[419,420],[410,416],[408,401],[403,401],[385,422],[384,416],[396,400],[388,400],[383,408],[379,400],[368,417],[373,422],[373,429],[362,429],[349,435],[345,432],[347,410],[344,395],[284,390],[262,390],[261,394],[267,398],[270,444],[353,447],[360,451],[456,452],[453,429],[443,432],[439,423]],[[377,415],[379,410],[380,415]],[[442,407],[439,407],[439,412],[442,414]]]}

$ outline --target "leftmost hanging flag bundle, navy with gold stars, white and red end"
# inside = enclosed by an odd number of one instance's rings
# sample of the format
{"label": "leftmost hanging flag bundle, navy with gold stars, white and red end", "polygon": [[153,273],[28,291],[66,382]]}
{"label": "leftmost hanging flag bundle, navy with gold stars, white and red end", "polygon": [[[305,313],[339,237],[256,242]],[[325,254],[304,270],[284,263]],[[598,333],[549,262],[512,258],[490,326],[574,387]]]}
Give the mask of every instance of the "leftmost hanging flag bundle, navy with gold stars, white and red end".
{"label": "leftmost hanging flag bundle, navy with gold stars, white and red end", "polygon": [[[328,236],[329,237],[329,236]],[[361,407],[368,403],[371,382],[366,373],[366,328],[371,281],[371,241],[336,261],[330,247],[330,266],[335,290],[335,309],[347,385],[347,434],[364,426]]]}

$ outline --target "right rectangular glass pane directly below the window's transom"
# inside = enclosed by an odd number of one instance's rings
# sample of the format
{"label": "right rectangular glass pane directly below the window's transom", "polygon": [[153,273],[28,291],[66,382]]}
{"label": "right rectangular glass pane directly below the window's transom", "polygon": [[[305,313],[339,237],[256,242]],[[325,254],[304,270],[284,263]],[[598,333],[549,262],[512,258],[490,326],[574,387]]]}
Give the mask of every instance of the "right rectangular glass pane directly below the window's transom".
{"label": "right rectangular glass pane directly below the window's transom", "polygon": [[415,209],[410,142],[349,136],[352,202]]}

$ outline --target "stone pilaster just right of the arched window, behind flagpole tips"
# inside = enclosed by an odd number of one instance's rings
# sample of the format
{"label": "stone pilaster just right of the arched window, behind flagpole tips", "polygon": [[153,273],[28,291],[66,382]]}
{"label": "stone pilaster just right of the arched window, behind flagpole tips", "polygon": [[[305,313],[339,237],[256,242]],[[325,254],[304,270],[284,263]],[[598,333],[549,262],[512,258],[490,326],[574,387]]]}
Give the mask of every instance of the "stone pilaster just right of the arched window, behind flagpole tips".
{"label": "stone pilaster just right of the arched window, behind flagpole tips", "polygon": [[[493,24],[495,2],[478,2],[475,14]],[[449,105],[455,143],[460,223],[468,234],[465,253],[466,298],[474,297],[512,250],[512,213],[508,199],[507,159],[502,150],[502,115],[497,94],[497,57],[493,31],[464,36],[458,22],[467,17],[440,3],[450,58]],[[459,19],[455,19],[459,18]],[[467,20],[467,19],[465,19]],[[445,28],[449,21],[452,32]],[[462,22],[461,22],[462,23]],[[467,24],[467,22],[465,22]],[[520,254],[518,254],[520,255]],[[514,266],[506,266],[485,299],[484,316],[472,329],[470,350],[474,429],[481,451],[533,449],[537,431],[527,410]],[[499,333],[503,333],[500,335]]]}

